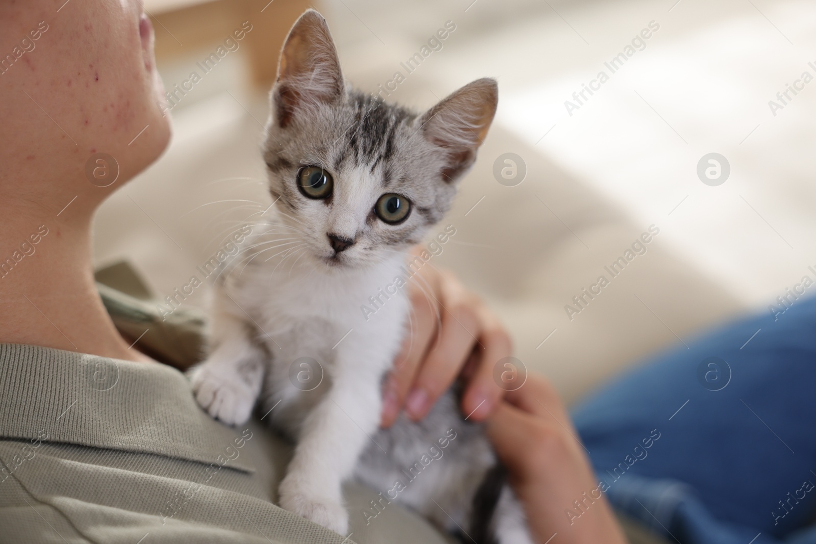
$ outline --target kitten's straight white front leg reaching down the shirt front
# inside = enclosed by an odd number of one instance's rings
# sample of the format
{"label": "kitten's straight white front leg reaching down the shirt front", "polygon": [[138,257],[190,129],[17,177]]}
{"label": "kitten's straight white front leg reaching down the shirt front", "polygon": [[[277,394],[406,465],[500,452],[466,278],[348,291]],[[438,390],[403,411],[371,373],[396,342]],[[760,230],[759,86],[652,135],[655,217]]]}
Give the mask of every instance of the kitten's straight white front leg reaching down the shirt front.
{"label": "kitten's straight white front leg reaching down the shirt front", "polygon": [[361,362],[374,356],[367,351],[358,349],[353,362],[335,361],[330,391],[304,421],[279,488],[283,508],[340,534],[348,532],[340,485],[379,424],[381,373],[371,368],[374,359]]}

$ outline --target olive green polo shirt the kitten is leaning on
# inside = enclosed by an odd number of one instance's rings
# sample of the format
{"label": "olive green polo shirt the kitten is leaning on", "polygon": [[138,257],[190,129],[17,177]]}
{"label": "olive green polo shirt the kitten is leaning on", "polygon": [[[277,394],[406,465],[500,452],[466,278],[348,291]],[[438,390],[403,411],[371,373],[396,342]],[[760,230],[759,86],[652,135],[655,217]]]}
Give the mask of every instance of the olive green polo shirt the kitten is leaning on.
{"label": "olive green polo shirt the kitten is leaning on", "polygon": [[168,365],[0,344],[0,542],[450,542],[396,504],[366,523],[379,497],[358,484],[348,535],[276,506],[290,445],[257,416],[213,420],[180,370],[200,356],[202,316],[163,319],[125,265],[97,277],[136,295],[99,285],[120,332]]}

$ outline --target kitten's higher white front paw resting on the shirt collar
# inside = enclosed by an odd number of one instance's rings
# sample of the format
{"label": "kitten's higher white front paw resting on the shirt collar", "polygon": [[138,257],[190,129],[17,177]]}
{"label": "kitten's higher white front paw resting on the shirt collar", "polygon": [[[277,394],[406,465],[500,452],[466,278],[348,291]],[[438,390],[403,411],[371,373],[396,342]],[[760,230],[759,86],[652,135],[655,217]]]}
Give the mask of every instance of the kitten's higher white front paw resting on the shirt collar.
{"label": "kitten's higher white front paw resting on the shirt collar", "polygon": [[213,418],[228,425],[241,425],[255,407],[255,391],[237,375],[199,366],[190,376],[198,404]]}

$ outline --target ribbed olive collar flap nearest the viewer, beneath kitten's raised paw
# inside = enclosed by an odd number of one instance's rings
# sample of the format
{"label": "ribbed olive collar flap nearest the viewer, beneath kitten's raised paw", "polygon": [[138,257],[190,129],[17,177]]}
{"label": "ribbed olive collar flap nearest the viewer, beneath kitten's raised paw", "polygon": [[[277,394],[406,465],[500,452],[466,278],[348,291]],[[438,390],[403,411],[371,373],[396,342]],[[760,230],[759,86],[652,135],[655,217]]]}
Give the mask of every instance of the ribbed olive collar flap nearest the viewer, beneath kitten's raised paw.
{"label": "ribbed olive collar flap nearest the viewer, beneath kitten's raised paw", "polygon": [[231,455],[240,429],[206,414],[170,366],[0,343],[0,436],[210,464]]}

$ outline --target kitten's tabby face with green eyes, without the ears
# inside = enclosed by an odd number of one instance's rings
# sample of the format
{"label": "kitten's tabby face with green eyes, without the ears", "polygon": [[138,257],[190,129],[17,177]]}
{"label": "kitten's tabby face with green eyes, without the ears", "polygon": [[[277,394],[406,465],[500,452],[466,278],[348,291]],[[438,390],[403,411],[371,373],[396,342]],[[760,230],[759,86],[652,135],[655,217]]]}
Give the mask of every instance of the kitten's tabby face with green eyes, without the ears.
{"label": "kitten's tabby face with green eyes, without the ears", "polygon": [[265,149],[270,192],[306,254],[357,266],[421,241],[455,188],[432,167],[417,117],[357,93],[315,113],[271,124]]}

